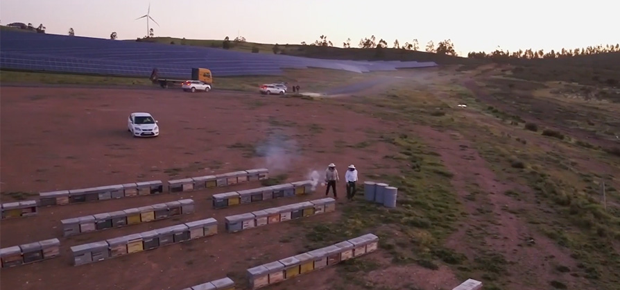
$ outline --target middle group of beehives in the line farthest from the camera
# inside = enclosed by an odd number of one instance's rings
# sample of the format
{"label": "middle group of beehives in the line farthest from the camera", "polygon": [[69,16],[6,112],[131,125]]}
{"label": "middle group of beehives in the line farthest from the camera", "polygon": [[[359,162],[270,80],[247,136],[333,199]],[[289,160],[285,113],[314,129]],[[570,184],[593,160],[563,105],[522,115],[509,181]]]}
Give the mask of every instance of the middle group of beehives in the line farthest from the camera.
{"label": "middle group of beehives in the line farthest from the camera", "polygon": [[105,201],[112,198],[161,194],[164,192],[163,187],[164,185],[161,180],[154,180],[127,183],[125,185],[108,185],[104,187],[42,192],[39,194],[39,198],[41,206],[68,205],[91,201]]}

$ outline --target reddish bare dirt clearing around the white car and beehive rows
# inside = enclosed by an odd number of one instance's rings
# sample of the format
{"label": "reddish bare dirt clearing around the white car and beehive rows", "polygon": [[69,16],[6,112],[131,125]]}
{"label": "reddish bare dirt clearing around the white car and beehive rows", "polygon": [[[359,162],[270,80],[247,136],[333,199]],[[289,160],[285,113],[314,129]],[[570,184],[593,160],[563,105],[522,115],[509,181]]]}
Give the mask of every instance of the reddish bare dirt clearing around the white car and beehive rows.
{"label": "reddish bare dirt clearing around the white car and beehive rows", "polygon": [[[5,192],[36,193],[143,180],[165,181],[264,167],[263,157],[248,159],[243,157],[244,148],[229,146],[261,142],[269,130],[282,130],[295,140],[298,152],[280,159],[283,169],[271,172],[272,176],[287,173],[289,182],[305,179],[311,169],[322,171],[330,162],[336,163],[341,171],[350,163],[356,164],[363,179],[365,174],[376,173],[370,168],[375,162],[386,162],[381,157],[391,149],[384,143],[364,149],[335,144],[368,141],[365,132],[379,131],[390,124],[330,101],[135,89],[3,87],[0,93],[1,186]],[[152,113],[160,121],[162,135],[153,139],[132,138],[126,131],[126,119],[130,112],[136,111]],[[289,123],[292,121],[295,123]],[[372,151],[376,153],[368,153]],[[171,171],[179,172],[171,177]],[[300,227],[295,226],[297,221],[236,234],[225,233],[221,226],[220,233],[214,237],[76,267],[71,266],[69,247],[208,217],[222,223],[224,216],[323,196],[318,192],[304,198],[284,198],[225,210],[211,208],[210,196],[214,193],[259,186],[254,183],[184,194],[46,207],[38,216],[1,221],[3,247],[54,237],[61,242],[60,257],[2,269],[2,288],[182,289],[225,275],[245,282],[246,268],[304,251],[305,237]],[[318,191],[321,190],[324,187],[319,187]],[[343,196],[344,187],[341,185],[338,190]],[[196,213],[62,237],[61,219],[180,198],[193,198]],[[10,196],[3,195],[1,200],[8,202]],[[345,206],[341,202],[336,208]],[[338,216],[338,213],[325,214],[308,220],[321,223]],[[301,276],[296,279],[295,287],[329,289],[330,282],[337,279],[335,273],[329,269]],[[287,281],[274,289],[292,285],[293,281]]]}

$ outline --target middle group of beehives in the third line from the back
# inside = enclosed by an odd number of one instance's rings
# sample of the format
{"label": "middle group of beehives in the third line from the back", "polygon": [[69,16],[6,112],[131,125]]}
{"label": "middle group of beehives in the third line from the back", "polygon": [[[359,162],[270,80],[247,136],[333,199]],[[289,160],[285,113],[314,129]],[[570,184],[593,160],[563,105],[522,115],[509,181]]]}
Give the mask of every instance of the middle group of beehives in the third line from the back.
{"label": "middle group of beehives in the third line from the back", "polygon": [[191,221],[139,234],[107,239],[106,241],[72,246],[71,253],[74,255],[74,265],[78,266],[180,243],[189,239],[212,236],[218,232],[217,225],[216,219],[212,218]]}

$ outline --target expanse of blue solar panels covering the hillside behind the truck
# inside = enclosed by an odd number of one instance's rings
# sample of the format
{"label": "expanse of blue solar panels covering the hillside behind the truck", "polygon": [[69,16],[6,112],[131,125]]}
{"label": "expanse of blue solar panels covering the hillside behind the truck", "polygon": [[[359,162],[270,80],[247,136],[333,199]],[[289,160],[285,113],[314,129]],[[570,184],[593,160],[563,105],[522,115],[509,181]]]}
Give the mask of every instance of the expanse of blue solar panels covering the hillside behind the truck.
{"label": "expanse of blue solar panels covering the hillside behind the truck", "polygon": [[199,46],[105,40],[0,31],[0,69],[77,74],[188,78],[193,67],[216,76],[277,75],[282,69],[318,67],[358,73],[434,67],[434,62],[321,60],[270,53],[246,53]]}

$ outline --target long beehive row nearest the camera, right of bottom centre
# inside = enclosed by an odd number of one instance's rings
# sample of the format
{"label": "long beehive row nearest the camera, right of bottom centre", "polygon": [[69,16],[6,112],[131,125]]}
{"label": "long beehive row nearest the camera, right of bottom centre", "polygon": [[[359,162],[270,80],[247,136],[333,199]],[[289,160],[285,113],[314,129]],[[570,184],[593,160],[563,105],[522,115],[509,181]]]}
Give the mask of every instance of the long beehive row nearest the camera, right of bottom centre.
{"label": "long beehive row nearest the camera, right of bottom centre", "polygon": [[342,241],[325,248],[311,250],[307,253],[249,268],[248,280],[250,280],[250,287],[257,289],[275,284],[300,274],[371,253],[377,250],[378,242],[379,237],[374,234],[364,234],[361,237]]}

